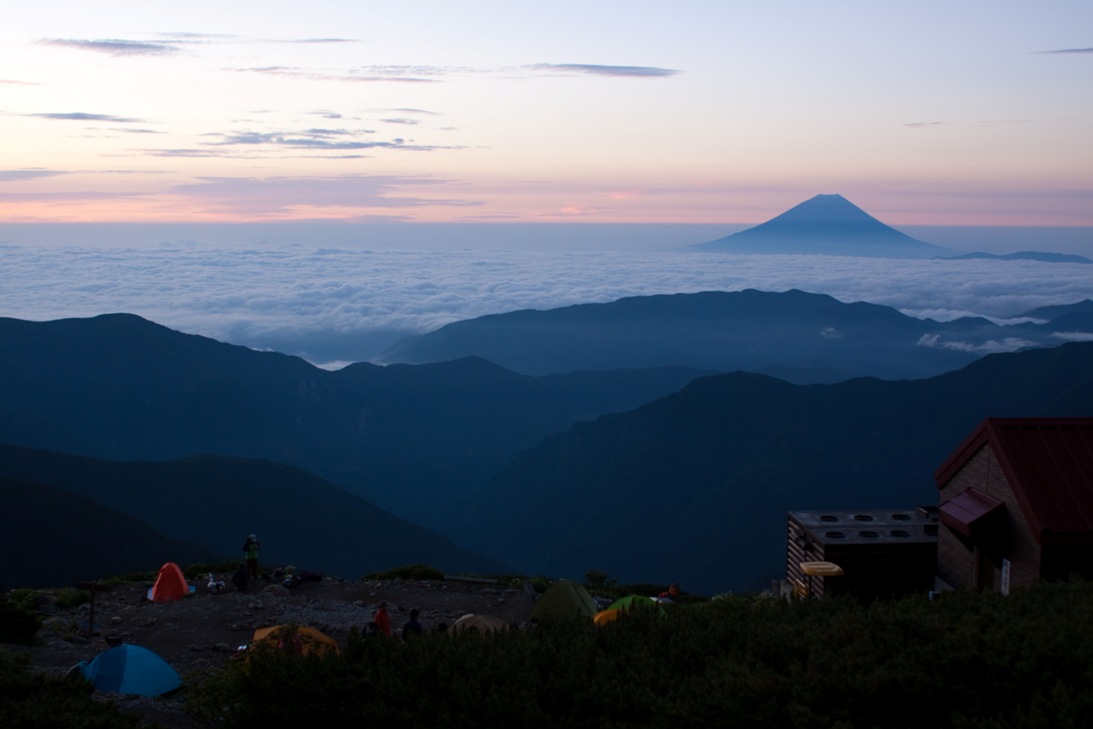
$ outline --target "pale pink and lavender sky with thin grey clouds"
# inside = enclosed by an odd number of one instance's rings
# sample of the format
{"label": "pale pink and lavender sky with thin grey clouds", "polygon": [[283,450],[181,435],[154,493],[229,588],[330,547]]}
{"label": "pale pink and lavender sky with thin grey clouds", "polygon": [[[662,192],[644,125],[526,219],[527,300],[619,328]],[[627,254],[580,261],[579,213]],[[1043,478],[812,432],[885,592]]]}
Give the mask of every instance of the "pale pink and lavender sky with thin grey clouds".
{"label": "pale pink and lavender sky with thin grey clouds", "polygon": [[[5,224],[1093,226],[1093,3],[23,3]],[[161,236],[162,237],[162,236]]]}

